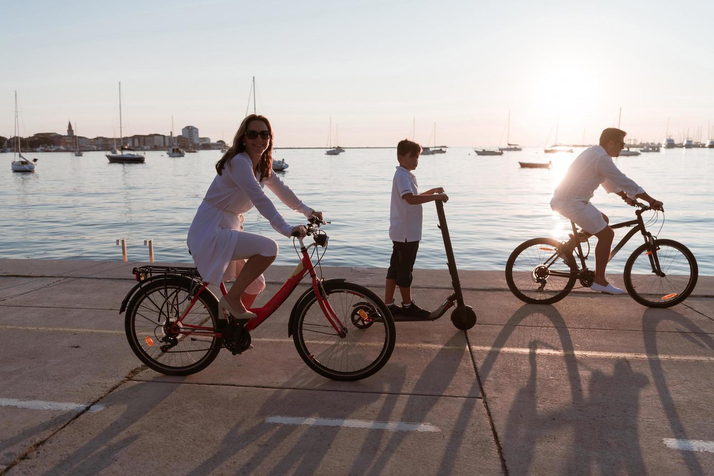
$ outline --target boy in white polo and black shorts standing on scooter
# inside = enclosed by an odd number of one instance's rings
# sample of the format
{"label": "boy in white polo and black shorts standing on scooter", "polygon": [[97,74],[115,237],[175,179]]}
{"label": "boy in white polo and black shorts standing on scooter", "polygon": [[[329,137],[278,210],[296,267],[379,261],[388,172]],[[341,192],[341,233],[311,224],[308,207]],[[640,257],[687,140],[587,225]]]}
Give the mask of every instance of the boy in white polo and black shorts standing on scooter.
{"label": "boy in white polo and black shorts standing on scooter", "polygon": [[[392,240],[392,257],[387,270],[384,292],[392,315],[401,314],[415,318],[428,318],[429,311],[420,308],[411,298],[411,272],[421,240],[421,204],[431,201],[448,201],[441,187],[419,193],[413,171],[419,163],[421,146],[404,139],[397,144],[397,166],[392,180],[392,203],[390,208],[389,238]],[[399,286],[402,305],[394,303],[394,292]]]}

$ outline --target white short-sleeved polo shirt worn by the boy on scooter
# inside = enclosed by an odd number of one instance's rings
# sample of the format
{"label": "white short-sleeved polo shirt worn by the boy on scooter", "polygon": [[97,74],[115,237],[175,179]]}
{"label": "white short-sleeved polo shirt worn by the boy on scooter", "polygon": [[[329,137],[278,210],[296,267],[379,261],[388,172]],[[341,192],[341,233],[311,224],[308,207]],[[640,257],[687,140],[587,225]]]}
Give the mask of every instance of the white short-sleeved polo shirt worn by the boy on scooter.
{"label": "white short-sleeved polo shirt worn by the boy on scooter", "polygon": [[402,198],[406,193],[419,194],[416,176],[406,168],[397,166],[392,179],[392,205],[389,221],[389,238],[392,241],[421,240],[421,204],[406,203]]}

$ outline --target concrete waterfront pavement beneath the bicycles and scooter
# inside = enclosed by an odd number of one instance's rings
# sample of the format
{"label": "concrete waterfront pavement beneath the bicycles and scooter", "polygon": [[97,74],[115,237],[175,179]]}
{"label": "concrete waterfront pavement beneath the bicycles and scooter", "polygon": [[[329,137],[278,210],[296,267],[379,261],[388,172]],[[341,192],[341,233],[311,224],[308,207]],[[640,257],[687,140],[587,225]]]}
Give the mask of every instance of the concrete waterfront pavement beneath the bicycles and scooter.
{"label": "concrete waterfront pavement beneath the bicycles and scooter", "polygon": [[[250,352],[146,370],[118,313],[136,264],[0,260],[0,474],[714,473],[712,277],[654,310],[589,292],[526,305],[503,273],[462,271],[474,328],[398,323],[389,363],[341,383],[288,338],[300,290]],[[323,270],[383,294],[384,270]],[[258,303],[289,271],[268,270]],[[434,308],[450,283],[416,270],[415,298]]]}

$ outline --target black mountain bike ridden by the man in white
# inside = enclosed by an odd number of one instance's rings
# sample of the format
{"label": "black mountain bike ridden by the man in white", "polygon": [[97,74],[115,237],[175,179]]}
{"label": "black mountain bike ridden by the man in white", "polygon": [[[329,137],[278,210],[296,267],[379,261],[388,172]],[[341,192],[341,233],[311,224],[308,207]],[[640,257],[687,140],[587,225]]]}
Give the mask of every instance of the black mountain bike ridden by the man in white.
{"label": "black mountain bike ridden by the man in white", "polygon": [[[610,225],[611,228],[634,226],[610,253],[610,260],[638,231],[645,240],[625,263],[625,288],[638,303],[649,308],[669,308],[681,303],[697,284],[697,260],[682,243],[663,240],[647,231],[660,218],[660,213],[636,203],[635,220]],[[642,214],[655,213],[645,223]],[[662,216],[664,224],[664,216]],[[575,281],[583,288],[593,285],[595,273],[585,265],[590,254],[590,233],[578,231],[572,221],[573,234],[567,241],[533,238],[518,245],[506,263],[506,282],[516,298],[531,304],[552,304],[565,298]],[[660,226],[660,230],[662,226]],[[583,253],[581,243],[588,243]],[[578,260],[581,268],[578,268]]]}

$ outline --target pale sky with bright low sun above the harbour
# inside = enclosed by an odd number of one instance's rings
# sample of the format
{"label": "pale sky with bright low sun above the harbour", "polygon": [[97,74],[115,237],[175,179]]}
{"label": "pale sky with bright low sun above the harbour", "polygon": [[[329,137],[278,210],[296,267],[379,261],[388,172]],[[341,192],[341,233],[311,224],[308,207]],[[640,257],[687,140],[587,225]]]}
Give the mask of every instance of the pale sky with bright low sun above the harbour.
{"label": "pale sky with bright low sun above the harbour", "polygon": [[[248,108],[278,147],[545,146],[714,130],[710,1],[14,1],[0,136],[230,141]],[[621,108],[621,115],[619,113]],[[250,109],[253,109],[251,102]],[[668,126],[669,124],[669,126]],[[414,131],[412,133],[412,130]],[[116,132],[115,132],[116,131]],[[712,134],[709,134],[712,135]],[[714,137],[712,137],[714,138]]]}

